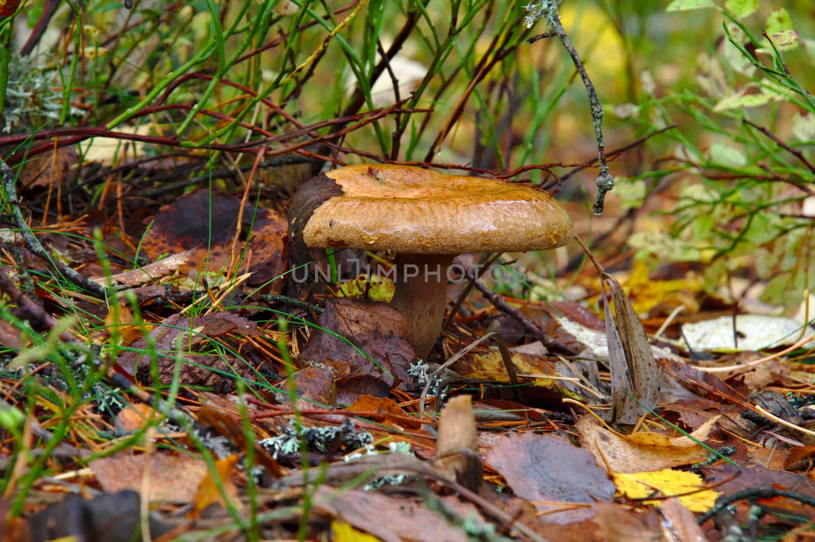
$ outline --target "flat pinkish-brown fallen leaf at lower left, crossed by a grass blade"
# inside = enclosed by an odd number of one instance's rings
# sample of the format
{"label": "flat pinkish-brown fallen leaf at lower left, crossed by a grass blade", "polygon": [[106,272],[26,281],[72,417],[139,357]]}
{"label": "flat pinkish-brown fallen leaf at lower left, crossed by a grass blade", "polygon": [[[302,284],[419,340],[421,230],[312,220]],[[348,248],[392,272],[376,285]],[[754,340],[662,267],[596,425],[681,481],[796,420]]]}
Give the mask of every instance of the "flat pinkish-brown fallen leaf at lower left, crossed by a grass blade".
{"label": "flat pinkish-brown fallen leaf at lower left, crossed by a grass blade", "polygon": [[108,493],[125,489],[141,492],[145,466],[148,466],[150,502],[190,502],[195,496],[196,487],[207,474],[206,461],[168,453],[149,456],[120,453],[90,461],[88,466],[94,471],[99,485]]}

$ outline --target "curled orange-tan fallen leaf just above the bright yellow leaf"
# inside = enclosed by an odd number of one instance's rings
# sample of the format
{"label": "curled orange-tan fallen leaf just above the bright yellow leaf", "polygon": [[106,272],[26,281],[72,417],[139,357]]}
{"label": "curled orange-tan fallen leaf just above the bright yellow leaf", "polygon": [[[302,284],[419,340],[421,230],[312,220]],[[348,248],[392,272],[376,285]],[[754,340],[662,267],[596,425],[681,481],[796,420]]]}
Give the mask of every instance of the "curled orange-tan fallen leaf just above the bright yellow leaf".
{"label": "curled orange-tan fallen leaf just above the bright yellow leaf", "polygon": [[[718,416],[694,431],[692,435],[704,440],[715,426]],[[580,431],[580,444],[594,456],[598,465],[608,465],[615,473],[635,473],[662,470],[673,466],[689,465],[701,461],[709,453],[688,437],[667,437],[659,433],[640,432],[619,435],[597,425],[592,417],[584,416],[575,424]]]}

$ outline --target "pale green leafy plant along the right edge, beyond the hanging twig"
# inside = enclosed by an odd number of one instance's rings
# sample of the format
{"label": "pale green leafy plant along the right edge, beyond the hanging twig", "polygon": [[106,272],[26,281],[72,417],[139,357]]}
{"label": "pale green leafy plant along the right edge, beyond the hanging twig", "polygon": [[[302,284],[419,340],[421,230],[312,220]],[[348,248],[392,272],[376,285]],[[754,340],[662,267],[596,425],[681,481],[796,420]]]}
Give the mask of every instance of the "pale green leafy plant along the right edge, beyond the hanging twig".
{"label": "pale green leafy plant along the right edge, beyond the hanging twig", "polygon": [[808,148],[815,141],[815,101],[801,82],[813,65],[813,42],[799,37],[784,8],[769,11],[756,28],[758,0],[723,7],[676,0],[667,10],[689,17],[704,8],[719,11],[722,23],[719,41],[698,52],[696,88],[657,95],[653,81],[644,83],[645,99],[633,110],[617,110],[648,129],[689,116],[688,131],[708,134],[694,140],[684,129],[667,131],[676,146],[663,166],[623,181],[637,190],[642,183],[664,189],[668,176],[682,181],[669,211],[676,217],[672,227],[639,232],[629,244],[643,258],[702,262],[711,290],[755,263],[767,281],[763,299],[800,303],[815,269],[813,214],[806,207],[815,195]]}

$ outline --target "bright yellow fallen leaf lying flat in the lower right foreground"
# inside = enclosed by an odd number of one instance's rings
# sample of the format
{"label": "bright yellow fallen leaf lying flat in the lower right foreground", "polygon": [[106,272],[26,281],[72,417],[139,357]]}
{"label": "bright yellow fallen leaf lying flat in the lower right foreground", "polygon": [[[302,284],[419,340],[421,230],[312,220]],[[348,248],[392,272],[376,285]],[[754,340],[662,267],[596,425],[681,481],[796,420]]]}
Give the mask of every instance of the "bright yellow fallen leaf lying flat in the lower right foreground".
{"label": "bright yellow fallen leaf lying flat in the lower right foreground", "polygon": [[[701,476],[682,470],[653,470],[632,474],[615,473],[617,489],[631,499],[649,496],[679,496],[679,501],[691,512],[707,512],[716,504],[719,493],[703,489]],[[701,491],[699,491],[701,490]],[[687,495],[684,495],[687,493]],[[662,505],[662,500],[645,500],[644,505]]]}

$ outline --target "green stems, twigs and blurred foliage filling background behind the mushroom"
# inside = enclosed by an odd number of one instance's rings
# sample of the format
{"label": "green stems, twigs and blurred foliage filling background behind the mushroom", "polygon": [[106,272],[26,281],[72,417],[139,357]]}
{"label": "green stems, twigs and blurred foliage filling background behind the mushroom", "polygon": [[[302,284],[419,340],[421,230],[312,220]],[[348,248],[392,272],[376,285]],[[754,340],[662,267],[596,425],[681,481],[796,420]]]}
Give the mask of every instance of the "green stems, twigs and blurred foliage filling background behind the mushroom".
{"label": "green stems, twigs and blurred foliage filling background behind the mushroom", "polygon": [[[560,190],[600,253],[651,269],[697,264],[710,290],[734,276],[766,283],[773,304],[811,287],[812,2],[562,2],[606,108],[607,150],[630,147],[611,164],[617,186],[601,217],[590,212],[593,170],[562,186],[555,177],[592,163],[596,143],[574,65],[555,40],[526,43],[546,27],[526,28],[523,2],[64,2],[20,58],[47,5],[26,2],[0,23],[0,135],[139,134],[113,164],[173,150],[147,136],[210,166],[227,155],[251,164],[235,151],[259,146],[494,173],[554,164],[520,177]],[[89,146],[77,143],[80,157],[95,156]]]}

